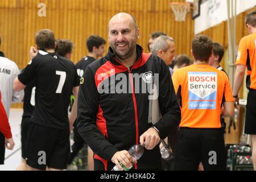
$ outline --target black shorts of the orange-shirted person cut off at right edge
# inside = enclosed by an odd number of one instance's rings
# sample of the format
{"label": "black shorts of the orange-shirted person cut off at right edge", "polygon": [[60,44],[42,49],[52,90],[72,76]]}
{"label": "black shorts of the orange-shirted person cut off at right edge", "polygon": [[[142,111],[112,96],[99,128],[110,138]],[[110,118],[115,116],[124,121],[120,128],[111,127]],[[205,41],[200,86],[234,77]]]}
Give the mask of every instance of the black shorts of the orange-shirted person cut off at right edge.
{"label": "black shorts of the orange-shirted person cut off at right edge", "polygon": [[245,134],[256,135],[256,90],[253,89],[247,96]]}

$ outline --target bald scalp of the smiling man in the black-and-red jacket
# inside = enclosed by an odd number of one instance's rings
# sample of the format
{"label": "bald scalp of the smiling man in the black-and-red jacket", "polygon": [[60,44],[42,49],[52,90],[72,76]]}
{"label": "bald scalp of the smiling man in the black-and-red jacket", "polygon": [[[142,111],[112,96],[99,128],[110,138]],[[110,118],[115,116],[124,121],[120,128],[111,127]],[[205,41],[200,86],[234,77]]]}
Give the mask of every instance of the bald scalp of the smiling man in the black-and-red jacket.
{"label": "bald scalp of the smiling man in the black-and-red jacket", "polygon": [[133,27],[135,29],[137,29],[137,23],[136,23],[136,20],[135,18],[128,14],[128,13],[118,13],[118,14],[115,14],[110,20],[109,20],[109,31],[110,31],[110,27],[113,25],[113,24],[116,24],[116,23],[120,23],[120,22],[126,22],[126,23],[131,23],[133,24]]}

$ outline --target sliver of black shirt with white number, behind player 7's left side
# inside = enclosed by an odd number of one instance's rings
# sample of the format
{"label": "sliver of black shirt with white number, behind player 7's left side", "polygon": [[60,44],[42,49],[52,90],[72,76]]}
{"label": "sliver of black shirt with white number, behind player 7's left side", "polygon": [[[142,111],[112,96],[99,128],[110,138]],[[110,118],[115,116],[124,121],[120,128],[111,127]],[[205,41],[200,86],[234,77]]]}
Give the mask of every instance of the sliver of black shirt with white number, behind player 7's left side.
{"label": "sliver of black shirt with white number, behind player 7's left side", "polygon": [[35,90],[36,80],[35,78],[28,82],[24,89],[24,101],[23,101],[23,115],[22,117],[31,117],[35,107]]}

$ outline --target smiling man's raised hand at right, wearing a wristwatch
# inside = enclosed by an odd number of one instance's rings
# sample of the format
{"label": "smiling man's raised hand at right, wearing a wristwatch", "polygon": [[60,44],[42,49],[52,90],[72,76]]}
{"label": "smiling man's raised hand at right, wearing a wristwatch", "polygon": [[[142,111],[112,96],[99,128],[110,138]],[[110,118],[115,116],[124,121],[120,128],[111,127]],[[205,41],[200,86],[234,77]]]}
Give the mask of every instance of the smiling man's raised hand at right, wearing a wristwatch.
{"label": "smiling man's raised hand at right, wearing a wristwatch", "polygon": [[139,137],[139,143],[145,146],[147,150],[152,150],[160,142],[158,131],[153,127],[145,131],[141,137]]}

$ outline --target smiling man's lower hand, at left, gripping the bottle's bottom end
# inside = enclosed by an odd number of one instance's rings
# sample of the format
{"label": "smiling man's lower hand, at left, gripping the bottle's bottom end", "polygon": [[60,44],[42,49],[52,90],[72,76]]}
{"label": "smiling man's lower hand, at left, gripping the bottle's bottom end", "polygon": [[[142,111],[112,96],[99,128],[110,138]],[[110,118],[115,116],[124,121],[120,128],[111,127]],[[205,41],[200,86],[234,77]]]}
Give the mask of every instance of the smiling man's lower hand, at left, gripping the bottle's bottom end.
{"label": "smiling man's lower hand, at left, gripping the bottle's bottom end", "polygon": [[133,163],[137,163],[137,160],[135,160],[127,150],[115,152],[111,160],[121,171],[123,171],[123,168],[120,166],[120,163],[126,168],[131,168],[133,167]]}

